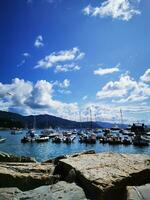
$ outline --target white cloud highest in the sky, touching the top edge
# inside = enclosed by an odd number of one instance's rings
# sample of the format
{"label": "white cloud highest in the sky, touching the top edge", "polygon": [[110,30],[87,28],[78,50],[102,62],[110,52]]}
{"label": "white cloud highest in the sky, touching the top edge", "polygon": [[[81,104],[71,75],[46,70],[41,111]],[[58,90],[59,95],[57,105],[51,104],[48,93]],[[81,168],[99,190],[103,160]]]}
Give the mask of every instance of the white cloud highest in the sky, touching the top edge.
{"label": "white cloud highest in the sky, touching the top edge", "polygon": [[83,9],[85,15],[112,17],[129,21],[134,15],[139,15],[141,12],[136,8],[140,0],[105,0],[99,7],[88,5]]}

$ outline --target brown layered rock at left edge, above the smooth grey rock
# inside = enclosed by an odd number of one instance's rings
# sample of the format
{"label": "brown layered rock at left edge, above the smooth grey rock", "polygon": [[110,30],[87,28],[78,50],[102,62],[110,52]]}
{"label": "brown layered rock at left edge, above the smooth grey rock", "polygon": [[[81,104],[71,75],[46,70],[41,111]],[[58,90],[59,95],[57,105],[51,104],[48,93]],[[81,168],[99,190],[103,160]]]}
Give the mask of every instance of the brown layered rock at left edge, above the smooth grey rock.
{"label": "brown layered rock at left edge, above the smooth grey rock", "polygon": [[58,180],[54,165],[40,163],[0,163],[0,187],[29,190]]}

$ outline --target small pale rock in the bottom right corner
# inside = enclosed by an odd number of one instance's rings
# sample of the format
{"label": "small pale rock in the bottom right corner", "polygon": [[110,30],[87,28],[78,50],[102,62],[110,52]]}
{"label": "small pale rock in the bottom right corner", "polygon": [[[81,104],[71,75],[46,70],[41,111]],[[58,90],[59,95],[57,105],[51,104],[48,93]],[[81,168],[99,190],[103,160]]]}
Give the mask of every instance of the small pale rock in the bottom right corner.
{"label": "small pale rock in the bottom right corner", "polygon": [[149,200],[150,184],[127,187],[127,200]]}

